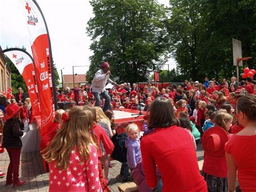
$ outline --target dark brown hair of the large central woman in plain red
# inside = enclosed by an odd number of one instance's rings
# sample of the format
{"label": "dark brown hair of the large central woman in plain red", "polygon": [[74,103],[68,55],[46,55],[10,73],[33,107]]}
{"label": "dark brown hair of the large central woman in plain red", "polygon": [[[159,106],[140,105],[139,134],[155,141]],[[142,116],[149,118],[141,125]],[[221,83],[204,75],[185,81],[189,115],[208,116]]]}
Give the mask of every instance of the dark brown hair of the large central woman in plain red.
{"label": "dark brown hair of the large central woman in plain red", "polygon": [[164,97],[154,99],[150,106],[148,128],[179,126],[179,124],[179,119],[174,114],[171,101]]}

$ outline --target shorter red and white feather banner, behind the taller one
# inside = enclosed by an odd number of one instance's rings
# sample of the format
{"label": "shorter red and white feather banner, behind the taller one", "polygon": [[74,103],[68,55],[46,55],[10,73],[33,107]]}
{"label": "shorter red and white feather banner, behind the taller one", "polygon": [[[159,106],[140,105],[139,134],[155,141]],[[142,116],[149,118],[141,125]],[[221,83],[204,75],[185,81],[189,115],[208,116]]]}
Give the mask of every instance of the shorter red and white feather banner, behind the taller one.
{"label": "shorter red and white feather banner, behind the taller one", "polygon": [[35,69],[31,56],[22,49],[12,48],[3,51],[7,57],[13,62],[19,73],[22,74],[24,81],[26,82],[28,95],[31,101],[31,121],[41,124],[40,118],[40,105],[38,101],[38,89],[36,84]]}

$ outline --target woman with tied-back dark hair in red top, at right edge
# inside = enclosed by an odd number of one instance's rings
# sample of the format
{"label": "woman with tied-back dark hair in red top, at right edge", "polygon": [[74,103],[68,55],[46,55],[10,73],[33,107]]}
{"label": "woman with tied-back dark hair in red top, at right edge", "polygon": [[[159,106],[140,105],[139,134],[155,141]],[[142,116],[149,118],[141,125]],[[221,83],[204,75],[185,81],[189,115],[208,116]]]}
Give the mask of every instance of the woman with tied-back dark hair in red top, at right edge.
{"label": "woman with tied-back dark hair in red top, at right edge", "polygon": [[236,181],[242,191],[256,191],[256,96],[245,95],[237,101],[237,120],[245,128],[233,134],[225,145],[229,192]]}

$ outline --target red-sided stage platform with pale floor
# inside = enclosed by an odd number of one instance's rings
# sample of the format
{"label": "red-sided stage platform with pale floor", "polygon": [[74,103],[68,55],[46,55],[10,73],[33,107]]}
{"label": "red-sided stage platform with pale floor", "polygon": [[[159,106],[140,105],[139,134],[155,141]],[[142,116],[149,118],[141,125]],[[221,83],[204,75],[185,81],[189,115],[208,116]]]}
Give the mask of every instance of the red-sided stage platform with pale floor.
{"label": "red-sided stage platform with pale floor", "polygon": [[[142,130],[142,124],[144,122],[143,117],[147,115],[147,111],[142,111],[142,115],[139,115],[139,110],[132,110],[127,108],[112,109],[115,117],[115,124],[117,124],[117,132],[121,133],[125,131],[125,128],[130,123],[135,123]],[[143,131],[143,130],[142,130]]]}

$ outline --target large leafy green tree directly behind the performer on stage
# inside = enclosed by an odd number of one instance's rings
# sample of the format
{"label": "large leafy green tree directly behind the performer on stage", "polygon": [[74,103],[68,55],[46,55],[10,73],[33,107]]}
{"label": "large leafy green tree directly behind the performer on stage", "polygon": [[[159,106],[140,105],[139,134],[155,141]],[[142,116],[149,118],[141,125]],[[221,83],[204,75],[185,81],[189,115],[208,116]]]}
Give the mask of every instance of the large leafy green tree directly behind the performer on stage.
{"label": "large leafy green tree directly behind the performer on stage", "polygon": [[109,61],[119,81],[145,81],[154,65],[167,61],[168,36],[163,20],[165,8],[155,0],[92,0],[94,17],[87,32],[92,37],[92,80],[102,61]]}

